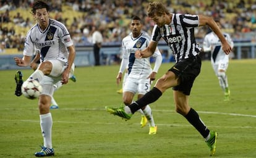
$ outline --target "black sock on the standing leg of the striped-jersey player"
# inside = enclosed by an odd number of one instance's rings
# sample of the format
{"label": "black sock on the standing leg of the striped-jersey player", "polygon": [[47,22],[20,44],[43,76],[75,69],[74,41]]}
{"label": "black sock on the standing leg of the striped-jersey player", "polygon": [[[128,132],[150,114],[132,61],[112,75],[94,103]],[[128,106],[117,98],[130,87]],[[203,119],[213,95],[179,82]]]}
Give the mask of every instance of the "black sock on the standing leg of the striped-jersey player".
{"label": "black sock on the standing leg of the striped-jersey player", "polygon": [[210,130],[208,130],[194,109],[191,108],[185,117],[189,123],[191,123],[191,125],[193,125],[197,131],[199,131],[203,138],[206,138],[209,135]]}

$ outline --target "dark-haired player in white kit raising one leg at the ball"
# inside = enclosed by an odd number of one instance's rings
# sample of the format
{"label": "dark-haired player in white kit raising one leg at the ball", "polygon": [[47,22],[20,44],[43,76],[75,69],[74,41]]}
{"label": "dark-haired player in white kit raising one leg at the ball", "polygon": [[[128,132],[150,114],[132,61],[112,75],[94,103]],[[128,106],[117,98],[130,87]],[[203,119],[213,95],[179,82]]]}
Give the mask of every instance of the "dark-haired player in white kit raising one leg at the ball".
{"label": "dark-haired player in white kit raising one leg at the ball", "polygon": [[53,118],[49,112],[54,84],[67,84],[69,74],[74,72],[75,47],[66,26],[49,18],[49,5],[45,1],[35,1],[32,6],[36,24],[30,28],[25,39],[23,58],[14,57],[20,67],[30,65],[34,46],[40,49],[41,63],[27,80],[38,80],[43,87],[39,97],[40,126],[44,145],[36,157],[53,156],[51,139]]}

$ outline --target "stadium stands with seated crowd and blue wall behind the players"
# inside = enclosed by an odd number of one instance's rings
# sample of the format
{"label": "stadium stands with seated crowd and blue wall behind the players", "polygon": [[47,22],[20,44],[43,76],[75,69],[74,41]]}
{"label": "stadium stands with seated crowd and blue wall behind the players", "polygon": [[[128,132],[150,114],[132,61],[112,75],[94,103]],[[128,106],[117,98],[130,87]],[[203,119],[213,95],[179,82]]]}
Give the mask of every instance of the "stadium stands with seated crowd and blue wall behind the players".
{"label": "stadium stands with seated crowd and blue wall behind the players", "polygon": [[[149,1],[48,1],[51,4],[51,18],[64,23],[72,35],[77,58],[75,65],[93,65],[92,27],[96,26],[103,34],[101,64],[118,64],[121,40],[129,33],[132,15],[143,19],[143,30],[151,35],[153,22],[147,17]],[[232,59],[255,58],[256,1],[164,1],[170,12],[183,14],[204,14],[220,17],[223,31],[230,33],[235,47]],[[17,69],[13,56],[22,56],[24,38],[35,24],[30,12],[33,0],[1,1],[0,4],[0,69]],[[202,44],[207,27],[195,29],[197,42]],[[164,62],[172,61],[168,47],[160,43]],[[208,54],[201,54],[208,59]]]}

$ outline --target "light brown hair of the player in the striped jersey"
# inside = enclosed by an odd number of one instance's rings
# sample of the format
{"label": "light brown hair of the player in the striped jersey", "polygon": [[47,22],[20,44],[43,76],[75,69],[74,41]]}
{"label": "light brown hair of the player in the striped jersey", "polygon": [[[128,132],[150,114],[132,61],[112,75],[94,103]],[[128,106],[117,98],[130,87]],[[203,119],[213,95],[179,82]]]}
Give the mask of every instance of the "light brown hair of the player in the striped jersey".
{"label": "light brown hair of the player in the striped jersey", "polygon": [[148,5],[148,17],[154,17],[155,15],[170,14],[168,9],[160,1],[150,2]]}

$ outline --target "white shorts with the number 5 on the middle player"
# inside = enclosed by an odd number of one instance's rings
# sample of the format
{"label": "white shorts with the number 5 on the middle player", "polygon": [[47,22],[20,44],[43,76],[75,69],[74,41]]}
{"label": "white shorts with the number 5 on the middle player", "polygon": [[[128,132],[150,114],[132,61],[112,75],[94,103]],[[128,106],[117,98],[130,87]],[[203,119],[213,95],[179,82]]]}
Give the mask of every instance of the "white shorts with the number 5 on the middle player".
{"label": "white shorts with the number 5 on the middle player", "polygon": [[129,91],[134,94],[146,94],[150,91],[150,86],[150,78],[132,78],[128,75],[123,91]]}

